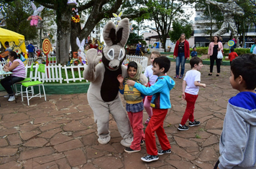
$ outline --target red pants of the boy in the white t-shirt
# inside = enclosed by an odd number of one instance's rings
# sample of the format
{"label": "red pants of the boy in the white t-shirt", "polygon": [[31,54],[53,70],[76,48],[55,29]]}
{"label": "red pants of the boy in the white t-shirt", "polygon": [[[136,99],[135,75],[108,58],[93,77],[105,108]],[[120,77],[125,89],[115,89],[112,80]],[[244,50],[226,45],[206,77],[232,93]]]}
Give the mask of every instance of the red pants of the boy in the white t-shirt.
{"label": "red pants of the boy in the white t-shirt", "polygon": [[180,122],[180,125],[185,125],[187,120],[193,122],[193,110],[195,109],[195,103],[198,95],[191,95],[185,92],[185,100],[187,101],[187,107]]}

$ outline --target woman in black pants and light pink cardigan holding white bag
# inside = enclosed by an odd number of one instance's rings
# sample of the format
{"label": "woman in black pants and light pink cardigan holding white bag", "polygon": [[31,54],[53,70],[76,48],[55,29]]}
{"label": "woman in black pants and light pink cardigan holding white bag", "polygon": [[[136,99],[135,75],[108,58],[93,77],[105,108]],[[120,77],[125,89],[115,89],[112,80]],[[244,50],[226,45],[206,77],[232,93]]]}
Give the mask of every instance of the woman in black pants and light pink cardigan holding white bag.
{"label": "woman in black pants and light pink cardigan holding white bag", "polygon": [[217,58],[218,52],[223,50],[223,45],[219,42],[219,37],[214,36],[209,44],[208,48],[208,57],[210,57],[210,73],[209,76],[212,75],[212,71],[214,69],[214,61],[216,60],[216,67],[217,67],[217,74],[216,76],[219,77],[219,73],[221,72],[221,59]]}

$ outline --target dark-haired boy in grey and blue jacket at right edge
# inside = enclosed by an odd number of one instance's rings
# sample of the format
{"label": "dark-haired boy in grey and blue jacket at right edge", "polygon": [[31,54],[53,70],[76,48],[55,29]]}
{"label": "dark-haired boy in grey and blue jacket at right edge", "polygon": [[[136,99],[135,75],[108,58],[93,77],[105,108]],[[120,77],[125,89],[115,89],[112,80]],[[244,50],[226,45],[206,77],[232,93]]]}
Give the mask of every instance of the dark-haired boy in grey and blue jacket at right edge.
{"label": "dark-haired boy in grey and blue jacket at right edge", "polygon": [[[214,168],[256,168],[256,55],[242,54],[231,64],[232,88]],[[219,165],[218,165],[219,163]],[[218,166],[218,167],[217,167]]]}

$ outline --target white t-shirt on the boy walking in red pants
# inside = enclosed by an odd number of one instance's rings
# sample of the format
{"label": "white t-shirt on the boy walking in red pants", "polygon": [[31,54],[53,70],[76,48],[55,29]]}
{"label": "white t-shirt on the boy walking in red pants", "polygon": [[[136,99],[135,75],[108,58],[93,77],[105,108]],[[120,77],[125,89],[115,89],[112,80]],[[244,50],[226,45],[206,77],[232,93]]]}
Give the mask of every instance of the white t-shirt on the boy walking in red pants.
{"label": "white t-shirt on the boy walking in red pants", "polygon": [[201,72],[194,69],[188,70],[183,80],[186,80],[187,84],[185,92],[191,95],[198,95],[199,87],[195,86],[194,82],[201,81]]}

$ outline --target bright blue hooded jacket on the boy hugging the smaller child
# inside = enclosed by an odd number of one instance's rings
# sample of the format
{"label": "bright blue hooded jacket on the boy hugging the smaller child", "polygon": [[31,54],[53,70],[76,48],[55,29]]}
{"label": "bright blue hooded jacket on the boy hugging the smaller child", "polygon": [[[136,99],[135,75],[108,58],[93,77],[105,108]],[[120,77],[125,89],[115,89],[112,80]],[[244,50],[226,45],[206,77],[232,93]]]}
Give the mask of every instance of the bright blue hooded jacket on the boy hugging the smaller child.
{"label": "bright blue hooded jacket on the boy hugging the smaller child", "polygon": [[145,87],[140,83],[135,83],[134,87],[142,92],[143,95],[152,95],[151,107],[155,109],[170,109],[170,90],[173,89],[175,82],[168,76],[157,78],[157,82],[150,87]]}

